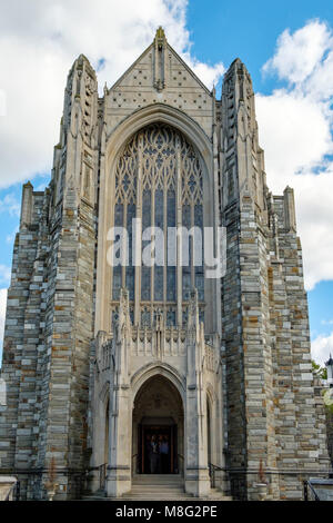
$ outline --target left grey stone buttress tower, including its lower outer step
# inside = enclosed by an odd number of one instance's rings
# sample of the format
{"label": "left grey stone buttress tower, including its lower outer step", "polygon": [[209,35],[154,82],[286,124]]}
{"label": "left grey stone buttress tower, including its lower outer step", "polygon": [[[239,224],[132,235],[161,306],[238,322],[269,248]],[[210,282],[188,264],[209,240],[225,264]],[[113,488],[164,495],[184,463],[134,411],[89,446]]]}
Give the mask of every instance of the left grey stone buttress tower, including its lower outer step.
{"label": "left grey stone buttress tower, including its lower outer step", "polygon": [[[93,111],[93,79],[80,57],[69,76],[50,187],[44,193],[23,187],[8,295],[2,364],[8,406],[0,433],[1,470],[19,474],[22,499],[44,495],[51,457],[60,471],[60,499],[79,495],[88,465],[97,170],[87,101],[90,97]],[[78,120],[81,129],[73,138]]]}

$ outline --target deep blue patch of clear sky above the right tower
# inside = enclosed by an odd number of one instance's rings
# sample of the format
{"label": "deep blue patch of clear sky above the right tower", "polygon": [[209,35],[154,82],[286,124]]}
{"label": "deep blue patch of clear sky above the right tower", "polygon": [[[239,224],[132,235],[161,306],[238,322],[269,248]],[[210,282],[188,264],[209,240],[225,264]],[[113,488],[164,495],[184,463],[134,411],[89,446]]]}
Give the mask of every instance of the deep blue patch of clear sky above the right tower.
{"label": "deep blue patch of clear sky above the right tower", "polygon": [[273,55],[279,34],[315,18],[332,26],[330,0],[191,0],[188,28],[198,58],[212,63],[222,60],[228,66],[239,57],[251,72],[255,89],[269,93],[275,83],[262,81],[261,68]]}

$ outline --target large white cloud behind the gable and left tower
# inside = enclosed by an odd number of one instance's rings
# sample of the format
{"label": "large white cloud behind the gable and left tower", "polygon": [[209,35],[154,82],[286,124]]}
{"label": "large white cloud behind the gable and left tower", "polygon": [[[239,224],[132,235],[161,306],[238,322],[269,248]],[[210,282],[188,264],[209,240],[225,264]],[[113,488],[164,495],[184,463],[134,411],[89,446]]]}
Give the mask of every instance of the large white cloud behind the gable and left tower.
{"label": "large white cloud behind the gable and left tower", "polygon": [[73,60],[84,53],[99,85],[112,85],[141,55],[162,24],[168,40],[201,80],[212,87],[224,68],[191,55],[188,0],[0,0],[0,187],[51,168],[63,89]]}

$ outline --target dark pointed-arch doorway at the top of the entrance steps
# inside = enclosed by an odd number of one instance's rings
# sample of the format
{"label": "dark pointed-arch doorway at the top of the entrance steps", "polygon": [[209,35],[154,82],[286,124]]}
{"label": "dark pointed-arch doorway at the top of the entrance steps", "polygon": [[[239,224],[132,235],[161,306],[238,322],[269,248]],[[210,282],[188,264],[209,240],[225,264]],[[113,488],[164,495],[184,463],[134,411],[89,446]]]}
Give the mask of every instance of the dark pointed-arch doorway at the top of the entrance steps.
{"label": "dark pointed-arch doorway at the top of the entrance steps", "polygon": [[164,376],[150,377],[133,404],[132,472],[179,474],[184,471],[184,411],[176,387]]}

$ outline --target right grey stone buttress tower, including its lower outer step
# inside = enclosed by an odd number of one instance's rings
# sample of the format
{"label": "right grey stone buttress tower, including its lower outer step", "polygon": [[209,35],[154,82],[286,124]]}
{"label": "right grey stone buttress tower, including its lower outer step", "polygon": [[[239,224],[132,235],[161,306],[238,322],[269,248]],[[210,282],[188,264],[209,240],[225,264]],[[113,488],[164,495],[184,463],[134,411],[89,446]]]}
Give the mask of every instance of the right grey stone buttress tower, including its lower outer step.
{"label": "right grey stone buttress tower, including its lower outer step", "polygon": [[[314,401],[293,191],[269,193],[253,98],[249,73],[235,60],[223,85],[220,162],[229,233],[222,282],[228,466],[239,497],[255,497],[262,462],[269,499],[295,500],[302,497],[303,478],[327,473],[326,436],[322,406]],[[236,282],[229,287],[232,273]]]}

